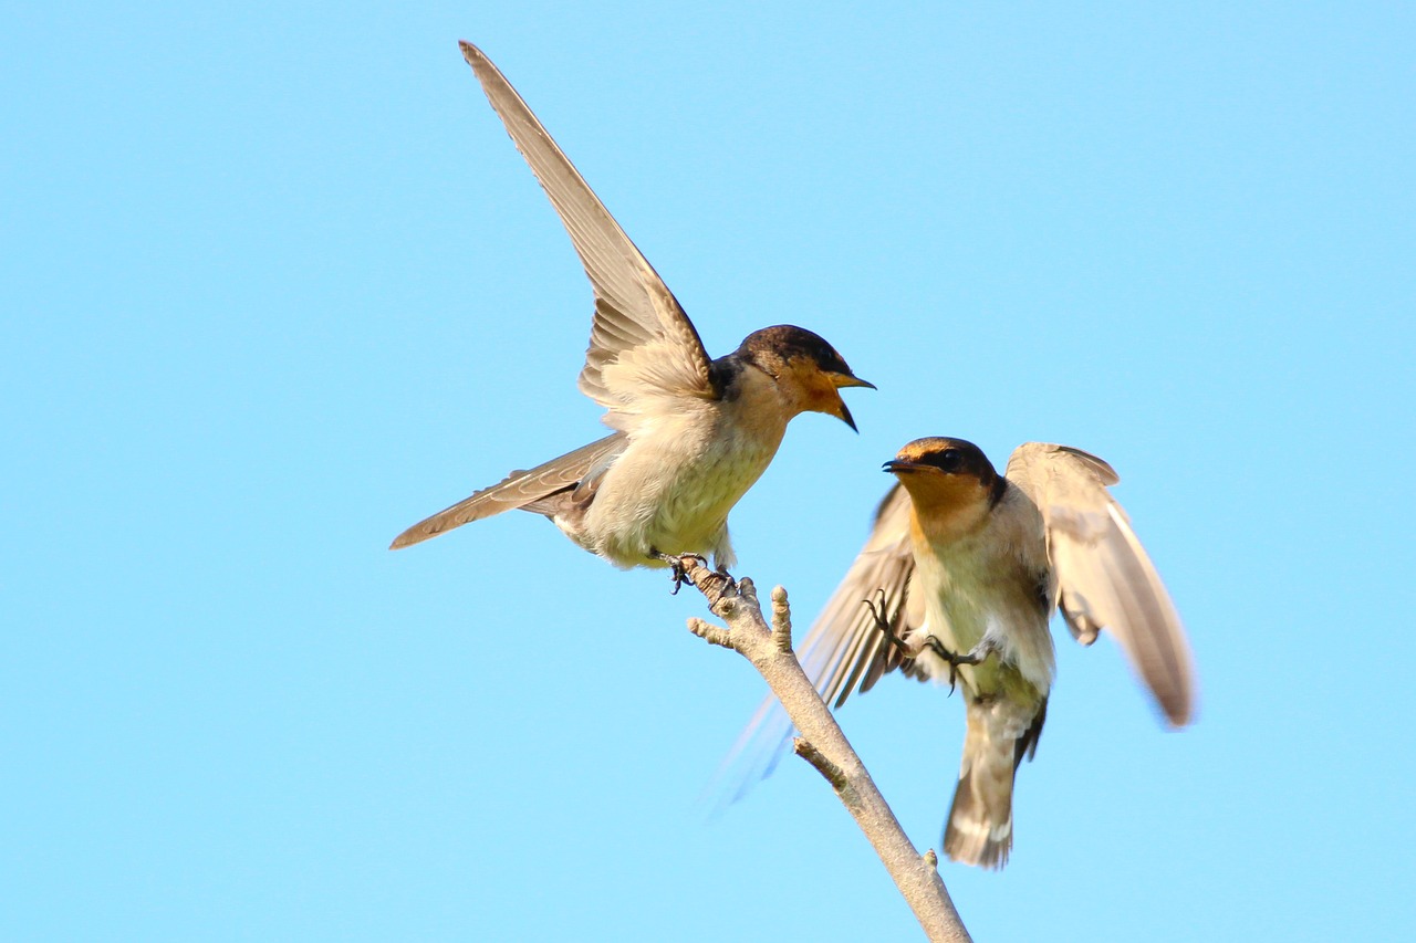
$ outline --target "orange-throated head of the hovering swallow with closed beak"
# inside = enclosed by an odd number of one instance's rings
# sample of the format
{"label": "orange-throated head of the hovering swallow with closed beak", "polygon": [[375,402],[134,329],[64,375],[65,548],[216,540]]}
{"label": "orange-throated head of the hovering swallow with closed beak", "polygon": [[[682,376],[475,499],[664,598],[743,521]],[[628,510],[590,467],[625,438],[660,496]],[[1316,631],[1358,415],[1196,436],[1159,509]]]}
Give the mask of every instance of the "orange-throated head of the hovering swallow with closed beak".
{"label": "orange-throated head of the hovering swallow with closed beak", "polygon": [[885,463],[909,491],[923,525],[969,525],[981,520],[1003,497],[1007,479],[983,449],[963,439],[915,439]]}

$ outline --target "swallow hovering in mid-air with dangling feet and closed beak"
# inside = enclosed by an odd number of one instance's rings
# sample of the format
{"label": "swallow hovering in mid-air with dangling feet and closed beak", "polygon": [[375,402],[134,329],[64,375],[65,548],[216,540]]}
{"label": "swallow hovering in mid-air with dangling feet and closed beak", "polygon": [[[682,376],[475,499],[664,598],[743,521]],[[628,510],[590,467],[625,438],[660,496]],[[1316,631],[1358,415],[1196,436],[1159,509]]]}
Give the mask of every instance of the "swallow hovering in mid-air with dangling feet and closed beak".
{"label": "swallow hovering in mid-air with dangling feet and closed beak", "polygon": [[[1028,442],[1000,476],[978,446],[929,438],[906,445],[884,470],[896,483],[803,640],[801,663],[835,708],[895,670],[957,684],[967,726],[944,854],[1003,868],[1014,777],[1037,752],[1055,674],[1052,610],[1082,644],[1103,629],[1112,634],[1174,728],[1195,707],[1189,644],[1107,491],[1120,479],[1102,459]],[[769,699],[728,763],[746,753],[752,779],[765,776],[789,733]]]}

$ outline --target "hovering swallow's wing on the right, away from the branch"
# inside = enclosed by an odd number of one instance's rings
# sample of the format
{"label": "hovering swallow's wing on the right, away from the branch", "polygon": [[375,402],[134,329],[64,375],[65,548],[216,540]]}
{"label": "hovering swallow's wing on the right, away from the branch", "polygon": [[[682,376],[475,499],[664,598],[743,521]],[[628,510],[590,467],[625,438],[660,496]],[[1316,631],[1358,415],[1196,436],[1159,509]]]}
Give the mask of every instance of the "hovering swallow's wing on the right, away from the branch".
{"label": "hovering swallow's wing on the right, away from the branch", "polygon": [[1102,629],[1112,633],[1167,719],[1188,724],[1189,643],[1130,518],[1106,490],[1120,480],[1116,471],[1080,449],[1028,442],[1008,459],[1007,476],[1042,511],[1058,607],[1072,636],[1092,644]]}

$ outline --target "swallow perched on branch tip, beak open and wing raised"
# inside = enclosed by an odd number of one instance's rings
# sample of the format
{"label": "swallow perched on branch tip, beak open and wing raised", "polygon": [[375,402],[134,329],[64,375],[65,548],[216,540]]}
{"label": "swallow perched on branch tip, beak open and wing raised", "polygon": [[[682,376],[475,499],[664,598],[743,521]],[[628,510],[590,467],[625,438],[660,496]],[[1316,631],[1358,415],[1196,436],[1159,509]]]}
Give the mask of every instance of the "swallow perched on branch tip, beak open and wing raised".
{"label": "swallow perched on branch tip, beak open and wing raised", "polygon": [[[709,358],[673,292],[589,188],[506,76],[469,42],[463,58],[551,198],[595,289],[579,388],[615,432],[413,524],[399,549],[511,508],[549,518],[620,568],[735,559],[728,511],[762,476],[803,412],[855,421],[840,391],[868,387],[821,337],[779,324]],[[681,572],[675,569],[675,573]]]}

